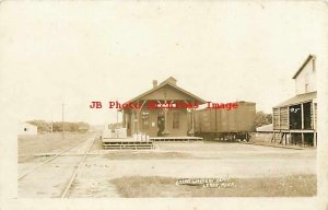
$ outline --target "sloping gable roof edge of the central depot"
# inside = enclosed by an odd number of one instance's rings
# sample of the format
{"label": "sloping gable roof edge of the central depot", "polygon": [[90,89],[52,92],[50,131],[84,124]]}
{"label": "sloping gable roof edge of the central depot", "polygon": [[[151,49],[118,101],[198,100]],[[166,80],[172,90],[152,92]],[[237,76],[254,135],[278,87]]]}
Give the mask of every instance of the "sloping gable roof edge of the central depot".
{"label": "sloping gable roof edge of the central depot", "polygon": [[178,91],[180,91],[180,92],[183,92],[183,93],[185,93],[185,94],[187,94],[187,95],[194,97],[194,98],[197,100],[200,104],[207,103],[204,100],[202,100],[202,98],[200,98],[200,97],[194,95],[192,93],[190,93],[190,92],[188,92],[188,91],[186,91],[186,90],[184,90],[184,89],[177,86],[177,85],[176,85],[176,79],[174,79],[173,77],[167,78],[166,80],[164,80],[163,82],[161,82],[160,85],[157,85],[157,86],[155,86],[155,88],[153,88],[153,89],[151,89],[151,90],[149,90],[149,91],[147,91],[147,92],[144,92],[144,93],[142,93],[142,94],[140,94],[140,95],[138,95],[137,97],[133,97],[132,100],[128,101],[127,103],[136,102],[136,101],[140,100],[141,97],[143,97],[143,96],[145,96],[145,95],[148,95],[148,94],[150,94],[150,93],[152,93],[152,92],[154,92],[154,91],[156,91],[156,90],[159,90],[159,89],[161,89],[161,88],[163,88],[163,86],[165,86],[165,85],[173,86],[174,89],[176,89],[176,90],[178,90]]}

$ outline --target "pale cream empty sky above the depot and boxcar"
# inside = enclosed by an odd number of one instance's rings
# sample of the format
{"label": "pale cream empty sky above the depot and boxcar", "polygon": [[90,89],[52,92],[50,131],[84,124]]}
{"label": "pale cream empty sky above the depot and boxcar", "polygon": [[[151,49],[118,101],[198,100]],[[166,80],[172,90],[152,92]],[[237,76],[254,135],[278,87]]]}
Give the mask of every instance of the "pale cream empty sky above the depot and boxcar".
{"label": "pale cream empty sky above the depot and boxcar", "polygon": [[[121,103],[168,77],[211,102],[257,110],[295,95],[309,54],[326,66],[320,1],[1,2],[1,103],[19,121],[116,121]],[[325,43],[326,42],[326,43]],[[327,58],[327,57],[325,57]],[[91,109],[93,101],[104,104]],[[120,119],[120,116],[119,116]]]}

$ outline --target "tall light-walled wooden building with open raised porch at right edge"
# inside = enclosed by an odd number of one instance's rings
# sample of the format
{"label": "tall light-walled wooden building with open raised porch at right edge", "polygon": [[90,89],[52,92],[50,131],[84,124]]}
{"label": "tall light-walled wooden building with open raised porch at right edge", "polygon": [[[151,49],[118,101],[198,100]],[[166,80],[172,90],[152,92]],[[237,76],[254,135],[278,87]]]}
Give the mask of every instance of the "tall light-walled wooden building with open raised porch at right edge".
{"label": "tall light-walled wooden building with open raised porch at right edge", "polygon": [[293,79],[296,95],[273,107],[273,140],[316,147],[316,57],[309,55]]}

